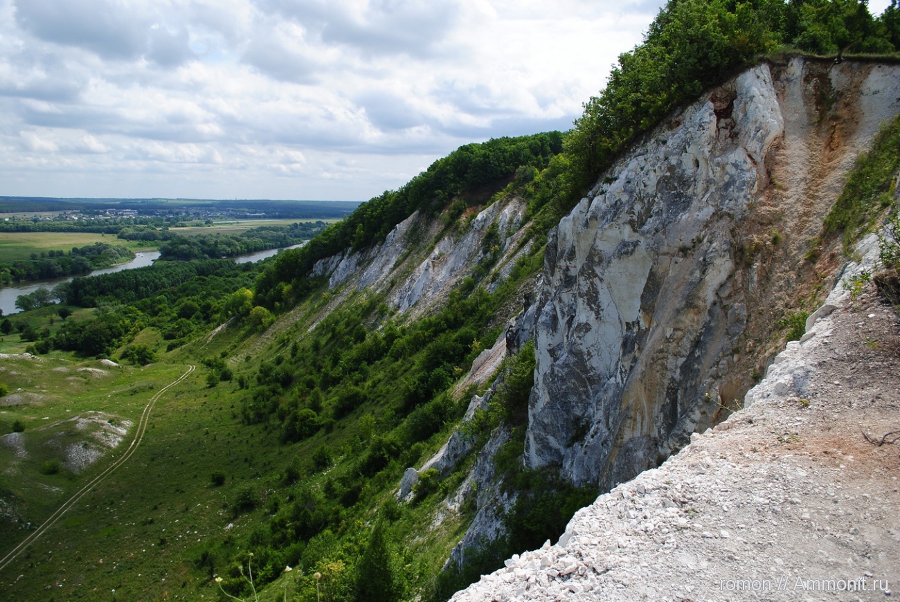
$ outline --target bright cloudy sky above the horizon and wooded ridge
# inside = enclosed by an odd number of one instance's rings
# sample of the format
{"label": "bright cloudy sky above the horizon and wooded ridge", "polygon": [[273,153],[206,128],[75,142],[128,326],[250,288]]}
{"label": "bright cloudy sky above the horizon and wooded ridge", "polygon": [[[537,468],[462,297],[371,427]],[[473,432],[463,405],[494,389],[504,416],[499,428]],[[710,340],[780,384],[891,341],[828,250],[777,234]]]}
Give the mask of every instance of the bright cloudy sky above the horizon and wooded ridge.
{"label": "bright cloudy sky above the horizon and wooded ridge", "polygon": [[0,195],[365,201],[568,130],[662,4],[0,0]]}

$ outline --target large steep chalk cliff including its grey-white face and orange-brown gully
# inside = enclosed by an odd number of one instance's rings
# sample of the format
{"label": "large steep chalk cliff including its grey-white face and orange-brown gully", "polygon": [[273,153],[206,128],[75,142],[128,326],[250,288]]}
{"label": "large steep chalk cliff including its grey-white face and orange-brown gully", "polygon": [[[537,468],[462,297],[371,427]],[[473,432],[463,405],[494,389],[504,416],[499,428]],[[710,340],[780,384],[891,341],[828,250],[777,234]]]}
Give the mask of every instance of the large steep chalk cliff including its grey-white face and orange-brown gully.
{"label": "large steep chalk cliff including its grey-white face and orange-brown gully", "polygon": [[[534,302],[527,469],[609,490],[740,408],[839,274],[823,220],[900,111],[900,68],[789,57],[704,94],[621,157],[548,239]],[[479,463],[509,438],[500,429]],[[483,472],[464,551],[515,495]]]}

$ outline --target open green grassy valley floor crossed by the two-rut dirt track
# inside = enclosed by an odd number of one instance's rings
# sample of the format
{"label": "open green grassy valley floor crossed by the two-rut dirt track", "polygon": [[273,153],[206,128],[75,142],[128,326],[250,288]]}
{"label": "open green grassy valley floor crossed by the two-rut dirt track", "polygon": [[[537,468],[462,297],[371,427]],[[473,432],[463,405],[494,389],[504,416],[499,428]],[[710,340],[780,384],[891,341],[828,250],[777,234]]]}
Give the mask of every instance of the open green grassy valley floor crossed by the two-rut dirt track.
{"label": "open green grassy valley floor crossed by the two-rut dirt track", "polygon": [[[9,489],[21,488],[23,483],[31,488],[14,490],[29,500],[29,517],[35,521],[112,460],[107,456],[76,477],[40,475],[40,462],[52,452],[42,448],[43,433],[37,425],[98,409],[133,422],[149,397],[186,367],[164,362],[85,378],[73,377],[78,364],[62,359],[43,360],[40,367],[33,360],[26,364],[19,362],[18,374],[4,375],[13,387],[68,391],[65,401],[20,406],[4,415],[23,420],[26,445],[37,451],[17,464],[15,475],[4,474],[0,483]],[[68,372],[53,372],[51,366],[66,367]],[[78,380],[73,382],[75,378]],[[284,459],[284,449],[279,446],[260,445],[259,428],[243,427],[234,419],[232,392],[227,386],[207,390],[202,371],[167,391],[157,402],[147,436],[130,461],[4,571],[4,582],[23,575],[14,584],[4,583],[10,588],[7,594],[19,600],[42,599],[34,597],[34,592],[52,585],[58,599],[108,598],[95,589],[116,589],[121,599],[163,599],[184,587],[201,585],[205,581],[202,572],[194,570],[189,560],[193,548],[211,536],[228,533],[232,522],[232,533],[238,538],[246,535],[261,516],[235,520],[223,505],[237,484],[257,478]],[[10,450],[4,448],[2,453],[9,455]],[[226,473],[222,487],[211,484],[210,474],[216,470]],[[61,491],[47,496],[44,485]],[[41,499],[46,503],[35,507]],[[9,549],[22,536],[23,532],[4,526],[2,549]]]}

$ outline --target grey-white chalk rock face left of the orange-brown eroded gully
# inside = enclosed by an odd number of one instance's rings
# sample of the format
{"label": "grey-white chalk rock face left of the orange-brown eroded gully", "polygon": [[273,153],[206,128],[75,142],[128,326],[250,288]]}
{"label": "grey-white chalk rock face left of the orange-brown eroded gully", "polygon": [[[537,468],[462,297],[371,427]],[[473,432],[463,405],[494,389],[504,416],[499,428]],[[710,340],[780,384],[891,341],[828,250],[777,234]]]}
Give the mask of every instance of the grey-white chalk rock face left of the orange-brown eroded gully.
{"label": "grey-white chalk rock face left of the orange-brown eroded gully", "polygon": [[[536,316],[527,462],[612,484],[671,451],[707,401],[707,367],[743,331],[720,289],[730,229],[765,181],[784,123],[768,66],[654,132],[564,218]],[[609,463],[617,450],[617,463]]]}

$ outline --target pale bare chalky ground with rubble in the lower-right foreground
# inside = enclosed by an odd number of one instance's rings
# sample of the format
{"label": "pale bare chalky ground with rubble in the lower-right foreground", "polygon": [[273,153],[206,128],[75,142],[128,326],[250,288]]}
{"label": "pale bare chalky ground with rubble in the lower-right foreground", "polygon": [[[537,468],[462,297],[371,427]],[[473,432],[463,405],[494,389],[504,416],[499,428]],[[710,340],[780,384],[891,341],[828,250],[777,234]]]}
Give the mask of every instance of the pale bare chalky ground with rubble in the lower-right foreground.
{"label": "pale bare chalky ground with rubble in the lower-right foreground", "polygon": [[[900,319],[839,285],[753,405],[454,600],[874,600],[900,594]],[[889,437],[888,441],[896,438]]]}

